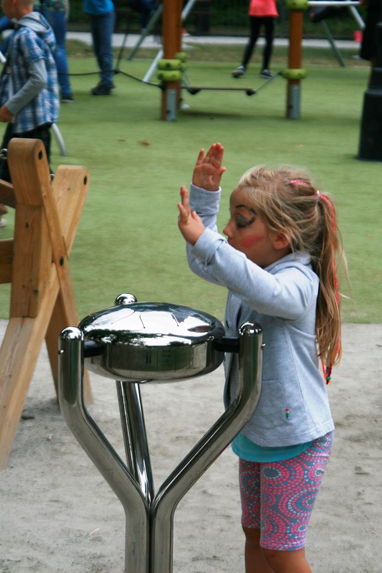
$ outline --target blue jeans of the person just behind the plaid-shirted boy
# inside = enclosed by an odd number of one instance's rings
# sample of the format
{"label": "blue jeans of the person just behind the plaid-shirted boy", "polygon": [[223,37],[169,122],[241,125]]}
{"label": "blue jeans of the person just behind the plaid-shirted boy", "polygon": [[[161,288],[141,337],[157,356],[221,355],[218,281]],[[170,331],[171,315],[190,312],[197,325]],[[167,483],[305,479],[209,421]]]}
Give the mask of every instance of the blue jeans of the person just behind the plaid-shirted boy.
{"label": "blue jeans of the person just behind the plaid-shirted boy", "polygon": [[56,38],[56,49],[53,52],[53,58],[56,62],[58,83],[61,88],[62,96],[69,96],[72,90],[70,89],[69,81],[69,67],[68,60],[66,58],[66,46],[65,46],[65,36],[66,36],[66,16],[65,12],[58,12],[53,10],[47,10],[42,7],[41,14],[45,16],[54,33]]}

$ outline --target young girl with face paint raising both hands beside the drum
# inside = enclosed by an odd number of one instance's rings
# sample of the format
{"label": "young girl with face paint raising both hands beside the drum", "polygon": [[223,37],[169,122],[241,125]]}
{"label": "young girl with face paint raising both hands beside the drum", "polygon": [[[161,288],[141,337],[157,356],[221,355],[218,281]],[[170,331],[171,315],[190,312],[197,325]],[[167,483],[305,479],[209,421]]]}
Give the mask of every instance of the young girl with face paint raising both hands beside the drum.
{"label": "young girl with face paint raising both hands beside the drum", "polygon": [[[233,441],[246,573],[308,573],[306,531],[333,445],[326,382],[341,358],[334,208],[306,174],[254,167],[231,194],[226,240],[216,231],[222,158],[220,143],[199,152],[178,223],[190,268],[229,290],[227,335],[246,321],[263,330],[261,395]],[[235,354],[225,372],[227,406]]]}

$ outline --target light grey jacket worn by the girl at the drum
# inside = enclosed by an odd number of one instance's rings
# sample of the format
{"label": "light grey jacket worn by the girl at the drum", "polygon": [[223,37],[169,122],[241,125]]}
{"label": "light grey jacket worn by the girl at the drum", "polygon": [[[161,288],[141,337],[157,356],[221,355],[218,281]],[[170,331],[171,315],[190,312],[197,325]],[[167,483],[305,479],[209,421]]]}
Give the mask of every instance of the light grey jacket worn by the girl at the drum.
{"label": "light grey jacket worn by the girl at the drum", "polygon": [[[262,269],[216,230],[219,191],[191,185],[191,209],[206,230],[187,244],[188,264],[198,276],[229,290],[225,327],[237,336],[249,321],[263,330],[260,398],[242,433],[260,446],[290,446],[334,429],[316,347],[319,280],[308,253],[292,253]],[[225,358],[225,405],[234,398],[237,355]],[[287,415],[288,412],[288,415]]]}

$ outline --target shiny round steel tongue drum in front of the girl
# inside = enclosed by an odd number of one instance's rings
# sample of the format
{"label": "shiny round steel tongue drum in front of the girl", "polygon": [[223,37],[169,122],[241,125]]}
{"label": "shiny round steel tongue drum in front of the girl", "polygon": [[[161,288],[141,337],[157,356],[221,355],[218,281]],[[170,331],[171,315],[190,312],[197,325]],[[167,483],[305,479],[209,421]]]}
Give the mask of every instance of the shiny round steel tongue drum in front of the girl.
{"label": "shiny round steel tongue drum in front of the girl", "polygon": [[127,382],[168,382],[207,374],[222,363],[215,340],[225,335],[219,320],[169,303],[137,303],[120,295],[114,307],[86,316],[88,370]]}

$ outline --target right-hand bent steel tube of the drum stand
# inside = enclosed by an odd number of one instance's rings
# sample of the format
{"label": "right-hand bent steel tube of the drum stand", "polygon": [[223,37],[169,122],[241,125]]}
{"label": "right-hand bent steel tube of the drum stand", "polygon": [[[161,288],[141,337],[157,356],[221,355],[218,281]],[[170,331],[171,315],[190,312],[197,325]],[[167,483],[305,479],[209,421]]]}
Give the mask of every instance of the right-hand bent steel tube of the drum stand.
{"label": "right-hand bent steel tube of the drum stand", "polygon": [[233,403],[156,493],[151,511],[150,573],[172,572],[172,529],[176,505],[239,433],[257,405],[261,391],[261,347],[261,328],[243,324],[239,329],[239,380]]}

